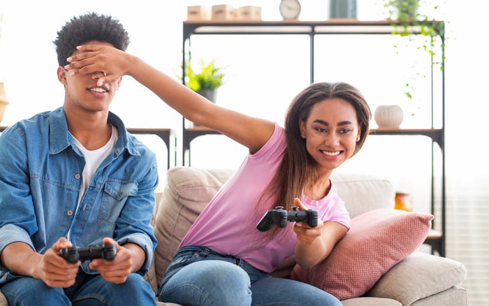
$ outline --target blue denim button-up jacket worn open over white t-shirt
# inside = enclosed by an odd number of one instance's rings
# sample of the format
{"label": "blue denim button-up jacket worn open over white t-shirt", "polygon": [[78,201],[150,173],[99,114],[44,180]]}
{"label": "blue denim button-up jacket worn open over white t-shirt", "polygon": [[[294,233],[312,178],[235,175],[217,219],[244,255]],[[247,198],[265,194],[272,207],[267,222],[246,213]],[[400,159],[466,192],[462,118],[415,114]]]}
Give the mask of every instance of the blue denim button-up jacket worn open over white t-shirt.
{"label": "blue denim button-up jacket worn open over white t-shirt", "polygon": [[[25,119],[0,135],[0,252],[25,242],[43,254],[71,228],[73,246],[100,245],[104,237],[146,252],[145,274],[156,238],[150,224],[158,184],[156,156],[109,112],[119,138],[101,163],[76,210],[85,159],[68,132],[63,108]],[[76,212],[76,214],[75,214]],[[83,263],[85,272],[88,261]],[[0,265],[0,284],[10,272]]]}

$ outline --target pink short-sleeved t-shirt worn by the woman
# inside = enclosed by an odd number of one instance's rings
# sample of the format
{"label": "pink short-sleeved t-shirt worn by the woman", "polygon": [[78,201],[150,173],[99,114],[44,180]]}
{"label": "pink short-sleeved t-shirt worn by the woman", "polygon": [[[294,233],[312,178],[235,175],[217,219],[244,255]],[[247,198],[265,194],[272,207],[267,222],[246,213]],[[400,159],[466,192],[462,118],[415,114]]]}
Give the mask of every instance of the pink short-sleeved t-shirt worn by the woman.
{"label": "pink short-sleeved t-shirt worn by the woman", "polygon": [[[256,210],[256,203],[272,180],[285,148],[285,131],[275,124],[268,142],[258,152],[247,156],[196,219],[180,247],[208,247],[219,254],[242,258],[265,272],[272,272],[284,258],[293,255],[297,243],[293,231],[264,245],[261,238],[265,233],[256,229],[258,221],[270,209],[270,204],[262,203]],[[321,200],[312,201],[302,196],[302,202],[317,210],[323,221],[336,221],[349,228],[349,213],[333,184]],[[293,222],[288,222],[287,226],[293,226]]]}

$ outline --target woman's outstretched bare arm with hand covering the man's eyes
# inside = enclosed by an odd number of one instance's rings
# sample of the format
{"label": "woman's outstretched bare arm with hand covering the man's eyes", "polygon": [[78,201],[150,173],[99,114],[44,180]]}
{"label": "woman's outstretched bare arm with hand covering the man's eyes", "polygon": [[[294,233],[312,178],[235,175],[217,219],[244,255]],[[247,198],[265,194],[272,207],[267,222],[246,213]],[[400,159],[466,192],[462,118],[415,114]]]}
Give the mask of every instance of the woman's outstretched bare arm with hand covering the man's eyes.
{"label": "woman's outstretched bare arm with hand covering the man's eyes", "polygon": [[185,118],[223,133],[251,153],[273,133],[273,122],[222,108],[132,54],[102,45],[82,45],[78,50],[64,67],[71,75],[102,71],[106,75],[98,79],[98,86],[130,75]]}

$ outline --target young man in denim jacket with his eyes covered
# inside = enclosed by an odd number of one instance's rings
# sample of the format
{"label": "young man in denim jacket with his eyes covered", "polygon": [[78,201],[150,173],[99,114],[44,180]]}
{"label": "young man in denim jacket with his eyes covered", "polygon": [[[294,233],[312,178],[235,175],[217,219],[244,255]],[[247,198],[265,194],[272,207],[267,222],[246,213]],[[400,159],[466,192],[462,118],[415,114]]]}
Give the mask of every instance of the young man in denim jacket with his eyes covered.
{"label": "young man in denim jacket with his eyes covered", "polygon": [[[10,126],[0,136],[0,291],[10,305],[151,305],[143,275],[156,239],[149,224],[158,184],[156,156],[109,105],[121,78],[68,75],[77,45],[126,50],[118,20],[73,17],[54,41],[64,105]],[[113,244],[113,260],[69,263],[66,247]]]}

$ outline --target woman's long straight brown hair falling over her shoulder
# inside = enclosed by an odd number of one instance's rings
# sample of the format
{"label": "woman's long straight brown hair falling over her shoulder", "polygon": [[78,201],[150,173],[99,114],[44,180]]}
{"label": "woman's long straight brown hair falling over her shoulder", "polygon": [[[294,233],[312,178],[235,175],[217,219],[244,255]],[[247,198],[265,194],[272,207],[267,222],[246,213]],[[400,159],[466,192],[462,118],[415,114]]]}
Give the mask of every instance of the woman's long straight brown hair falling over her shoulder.
{"label": "woman's long straight brown hair falling over her shoulder", "polygon": [[[285,132],[287,147],[284,159],[275,173],[268,187],[261,194],[258,203],[270,201],[270,207],[283,206],[291,210],[294,198],[300,198],[307,182],[318,179],[316,161],[306,150],[305,139],[300,135],[299,122],[306,122],[312,107],[325,99],[339,98],[348,101],[356,110],[360,140],[356,143],[353,155],[360,150],[369,133],[369,124],[372,114],[370,108],[358,89],[345,82],[319,82],[309,85],[295,96],[286,112]],[[282,228],[273,228],[265,235],[265,240],[277,235]]]}

